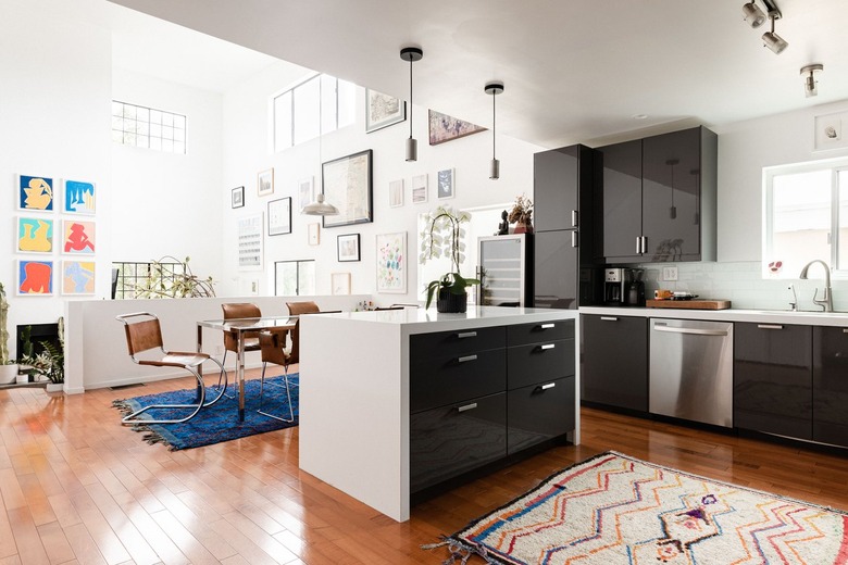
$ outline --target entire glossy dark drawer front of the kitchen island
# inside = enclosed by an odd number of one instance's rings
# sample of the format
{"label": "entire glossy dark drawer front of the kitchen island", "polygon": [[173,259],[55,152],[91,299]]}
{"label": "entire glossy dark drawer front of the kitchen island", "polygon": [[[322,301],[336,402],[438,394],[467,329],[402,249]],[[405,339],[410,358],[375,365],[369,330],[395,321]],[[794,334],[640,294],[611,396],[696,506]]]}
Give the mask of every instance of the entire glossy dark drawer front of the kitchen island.
{"label": "entire glossy dark drawer front of the kitchen island", "polygon": [[569,434],[574,394],[573,321],[411,336],[410,491]]}

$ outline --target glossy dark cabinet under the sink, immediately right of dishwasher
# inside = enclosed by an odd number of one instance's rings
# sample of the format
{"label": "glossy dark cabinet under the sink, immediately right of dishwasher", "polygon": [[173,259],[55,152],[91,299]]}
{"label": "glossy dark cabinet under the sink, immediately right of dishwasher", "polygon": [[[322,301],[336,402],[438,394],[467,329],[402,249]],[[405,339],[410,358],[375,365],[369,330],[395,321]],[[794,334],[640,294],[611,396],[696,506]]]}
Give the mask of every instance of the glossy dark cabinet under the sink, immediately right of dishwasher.
{"label": "glossy dark cabinet under the sink, immediately right of dishwasher", "polygon": [[812,439],[812,334],[810,326],[734,324],[736,427]]}

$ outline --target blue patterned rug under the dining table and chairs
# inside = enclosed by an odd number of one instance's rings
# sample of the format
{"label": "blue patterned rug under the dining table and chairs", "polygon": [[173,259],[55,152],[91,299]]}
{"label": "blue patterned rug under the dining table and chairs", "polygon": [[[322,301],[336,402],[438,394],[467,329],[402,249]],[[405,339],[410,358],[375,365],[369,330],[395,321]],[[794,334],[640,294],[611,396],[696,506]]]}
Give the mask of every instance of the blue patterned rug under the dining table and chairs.
{"label": "blue patterned rug under the dining table and chairs", "polygon": [[[198,414],[183,424],[138,424],[135,431],[145,432],[144,440],[148,443],[164,443],[171,451],[211,445],[221,441],[245,438],[254,434],[264,434],[298,425],[298,387],[299,377],[292,373],[288,377],[291,390],[291,405],[295,411],[295,422],[287,424],[257,413],[259,407],[259,380],[245,381],[245,422],[238,420],[238,398],[234,385],[227,387],[227,394],[234,399],[222,398],[215,404],[202,409]],[[213,395],[214,394],[214,395]],[[214,398],[217,390],[210,387],[207,395]],[[112,405],[124,415],[130,414],[150,404],[188,404],[195,402],[195,389],[174,390],[147,394],[132,399],[115,400]],[[186,416],[191,409],[152,409],[139,417],[149,419],[179,418]],[[286,405],[286,389],[283,376],[265,378],[265,398],[263,412],[289,417]],[[152,413],[152,414],[151,414]]]}

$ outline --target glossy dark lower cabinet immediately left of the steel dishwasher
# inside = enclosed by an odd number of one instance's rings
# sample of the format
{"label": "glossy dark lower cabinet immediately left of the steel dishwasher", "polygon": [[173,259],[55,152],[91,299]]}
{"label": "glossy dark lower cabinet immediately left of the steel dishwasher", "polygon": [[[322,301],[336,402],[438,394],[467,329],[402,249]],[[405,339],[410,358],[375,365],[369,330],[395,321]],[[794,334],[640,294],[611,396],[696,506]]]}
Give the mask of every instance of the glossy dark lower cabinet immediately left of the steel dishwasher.
{"label": "glossy dark lower cabinet immediately left of the steel dishwasher", "polygon": [[581,400],[648,411],[648,318],[581,315]]}

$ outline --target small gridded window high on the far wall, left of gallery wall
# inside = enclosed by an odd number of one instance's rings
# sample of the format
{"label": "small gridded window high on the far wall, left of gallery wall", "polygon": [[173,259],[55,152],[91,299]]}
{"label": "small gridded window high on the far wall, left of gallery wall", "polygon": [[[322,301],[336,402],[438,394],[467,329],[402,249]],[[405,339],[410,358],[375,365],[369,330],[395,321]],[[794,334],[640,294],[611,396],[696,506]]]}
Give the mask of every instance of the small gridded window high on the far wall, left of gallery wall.
{"label": "small gridded window high on the far wall, left of gallery wall", "polygon": [[166,153],[185,153],[186,116],[113,100],[112,141]]}

